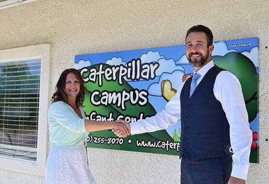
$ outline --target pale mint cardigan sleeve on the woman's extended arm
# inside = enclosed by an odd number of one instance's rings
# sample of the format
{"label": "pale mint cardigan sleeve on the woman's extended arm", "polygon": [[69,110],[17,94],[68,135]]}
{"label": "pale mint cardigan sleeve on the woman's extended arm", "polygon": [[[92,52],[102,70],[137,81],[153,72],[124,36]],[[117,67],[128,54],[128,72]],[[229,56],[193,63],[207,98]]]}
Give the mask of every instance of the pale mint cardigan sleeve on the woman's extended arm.
{"label": "pale mint cardigan sleeve on the woman's extended arm", "polygon": [[56,122],[72,132],[83,133],[85,120],[78,117],[72,109],[64,102],[54,102],[48,109],[48,123]]}

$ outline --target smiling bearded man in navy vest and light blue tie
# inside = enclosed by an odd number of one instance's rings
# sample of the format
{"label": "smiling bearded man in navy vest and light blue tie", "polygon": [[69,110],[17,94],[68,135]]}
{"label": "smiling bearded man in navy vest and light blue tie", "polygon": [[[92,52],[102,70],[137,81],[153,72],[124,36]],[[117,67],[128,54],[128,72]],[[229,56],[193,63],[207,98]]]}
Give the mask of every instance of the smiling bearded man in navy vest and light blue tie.
{"label": "smiling bearded man in navy vest and light blue tie", "polygon": [[[166,129],[181,119],[181,184],[245,184],[252,132],[240,83],[214,65],[213,35],[207,27],[191,27],[185,41],[193,77],[177,90],[165,110],[130,123],[131,134]],[[119,131],[114,133],[120,136]]]}

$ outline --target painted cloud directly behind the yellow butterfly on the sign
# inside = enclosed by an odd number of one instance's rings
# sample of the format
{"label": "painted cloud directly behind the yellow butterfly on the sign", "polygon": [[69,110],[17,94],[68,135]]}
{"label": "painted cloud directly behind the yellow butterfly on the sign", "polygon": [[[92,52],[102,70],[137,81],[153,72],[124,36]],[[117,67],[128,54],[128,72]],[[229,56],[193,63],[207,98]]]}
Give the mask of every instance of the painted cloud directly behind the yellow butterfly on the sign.
{"label": "painted cloud directly behind the yellow butterfly on the sign", "polygon": [[161,82],[163,80],[170,80],[172,83],[172,88],[177,90],[179,87],[182,86],[182,77],[185,75],[185,73],[181,70],[175,70],[173,73],[163,73],[160,78],[158,83],[152,83],[147,91],[149,92],[150,95],[154,96],[161,96]]}

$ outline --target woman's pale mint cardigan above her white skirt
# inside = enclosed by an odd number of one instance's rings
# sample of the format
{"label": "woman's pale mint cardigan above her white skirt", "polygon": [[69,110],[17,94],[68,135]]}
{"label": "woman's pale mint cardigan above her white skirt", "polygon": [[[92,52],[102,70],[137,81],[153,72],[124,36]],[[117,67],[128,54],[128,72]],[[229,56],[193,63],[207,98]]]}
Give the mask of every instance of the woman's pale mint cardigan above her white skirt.
{"label": "woman's pale mint cardigan above her white skirt", "polygon": [[72,107],[62,101],[50,105],[47,120],[51,147],[77,147],[84,143],[88,133],[85,130],[83,108],[79,109],[83,119]]}

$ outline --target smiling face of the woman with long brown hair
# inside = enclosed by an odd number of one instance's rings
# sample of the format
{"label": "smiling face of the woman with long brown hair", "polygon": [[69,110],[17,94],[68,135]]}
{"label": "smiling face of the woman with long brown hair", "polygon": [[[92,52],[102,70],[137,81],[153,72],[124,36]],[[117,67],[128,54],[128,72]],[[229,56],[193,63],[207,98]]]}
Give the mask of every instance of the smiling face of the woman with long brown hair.
{"label": "smiling face of the woman with long brown hair", "polygon": [[64,92],[67,98],[76,97],[79,94],[80,83],[75,74],[69,73],[66,76]]}

